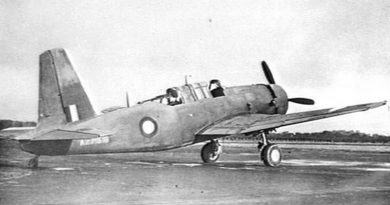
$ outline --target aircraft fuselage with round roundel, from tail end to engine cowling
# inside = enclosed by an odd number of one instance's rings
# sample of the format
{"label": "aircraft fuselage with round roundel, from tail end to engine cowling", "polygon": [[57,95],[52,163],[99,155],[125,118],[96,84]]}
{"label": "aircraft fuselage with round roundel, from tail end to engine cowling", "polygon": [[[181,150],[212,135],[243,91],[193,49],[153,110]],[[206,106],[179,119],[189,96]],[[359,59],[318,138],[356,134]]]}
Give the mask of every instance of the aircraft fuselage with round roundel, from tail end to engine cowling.
{"label": "aircraft fuselage with round roundel, from tail end to engine cowling", "polygon": [[20,141],[21,147],[36,155],[146,152],[183,147],[207,140],[197,138],[196,133],[232,115],[285,114],[288,108],[286,92],[278,85],[272,85],[272,89],[276,104],[270,103],[274,98],[267,85],[228,87],[223,97],[177,106],[148,102],[57,128],[110,131],[99,138]]}

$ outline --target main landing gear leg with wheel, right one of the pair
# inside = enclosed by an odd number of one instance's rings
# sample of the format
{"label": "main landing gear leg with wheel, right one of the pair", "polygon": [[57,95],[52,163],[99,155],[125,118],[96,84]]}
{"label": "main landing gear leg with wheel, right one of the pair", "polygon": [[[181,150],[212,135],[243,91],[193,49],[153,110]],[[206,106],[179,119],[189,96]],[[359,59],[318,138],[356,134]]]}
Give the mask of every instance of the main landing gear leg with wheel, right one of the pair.
{"label": "main landing gear leg with wheel, right one of the pair", "polygon": [[261,133],[262,142],[259,142],[257,146],[260,152],[260,159],[266,166],[277,167],[282,162],[282,152],[276,144],[268,142],[267,134]]}

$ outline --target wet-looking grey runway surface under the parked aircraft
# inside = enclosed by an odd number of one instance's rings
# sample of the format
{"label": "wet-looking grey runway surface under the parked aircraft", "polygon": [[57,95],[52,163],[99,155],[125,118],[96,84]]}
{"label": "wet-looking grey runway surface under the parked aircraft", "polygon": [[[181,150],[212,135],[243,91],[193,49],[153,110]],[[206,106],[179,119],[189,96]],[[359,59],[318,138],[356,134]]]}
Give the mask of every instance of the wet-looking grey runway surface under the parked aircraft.
{"label": "wet-looking grey runway surface under the parked aircraft", "polygon": [[390,204],[389,146],[281,144],[277,168],[259,162],[254,142],[225,144],[216,164],[196,145],[41,157],[31,170],[31,155],[0,143],[0,204]]}

